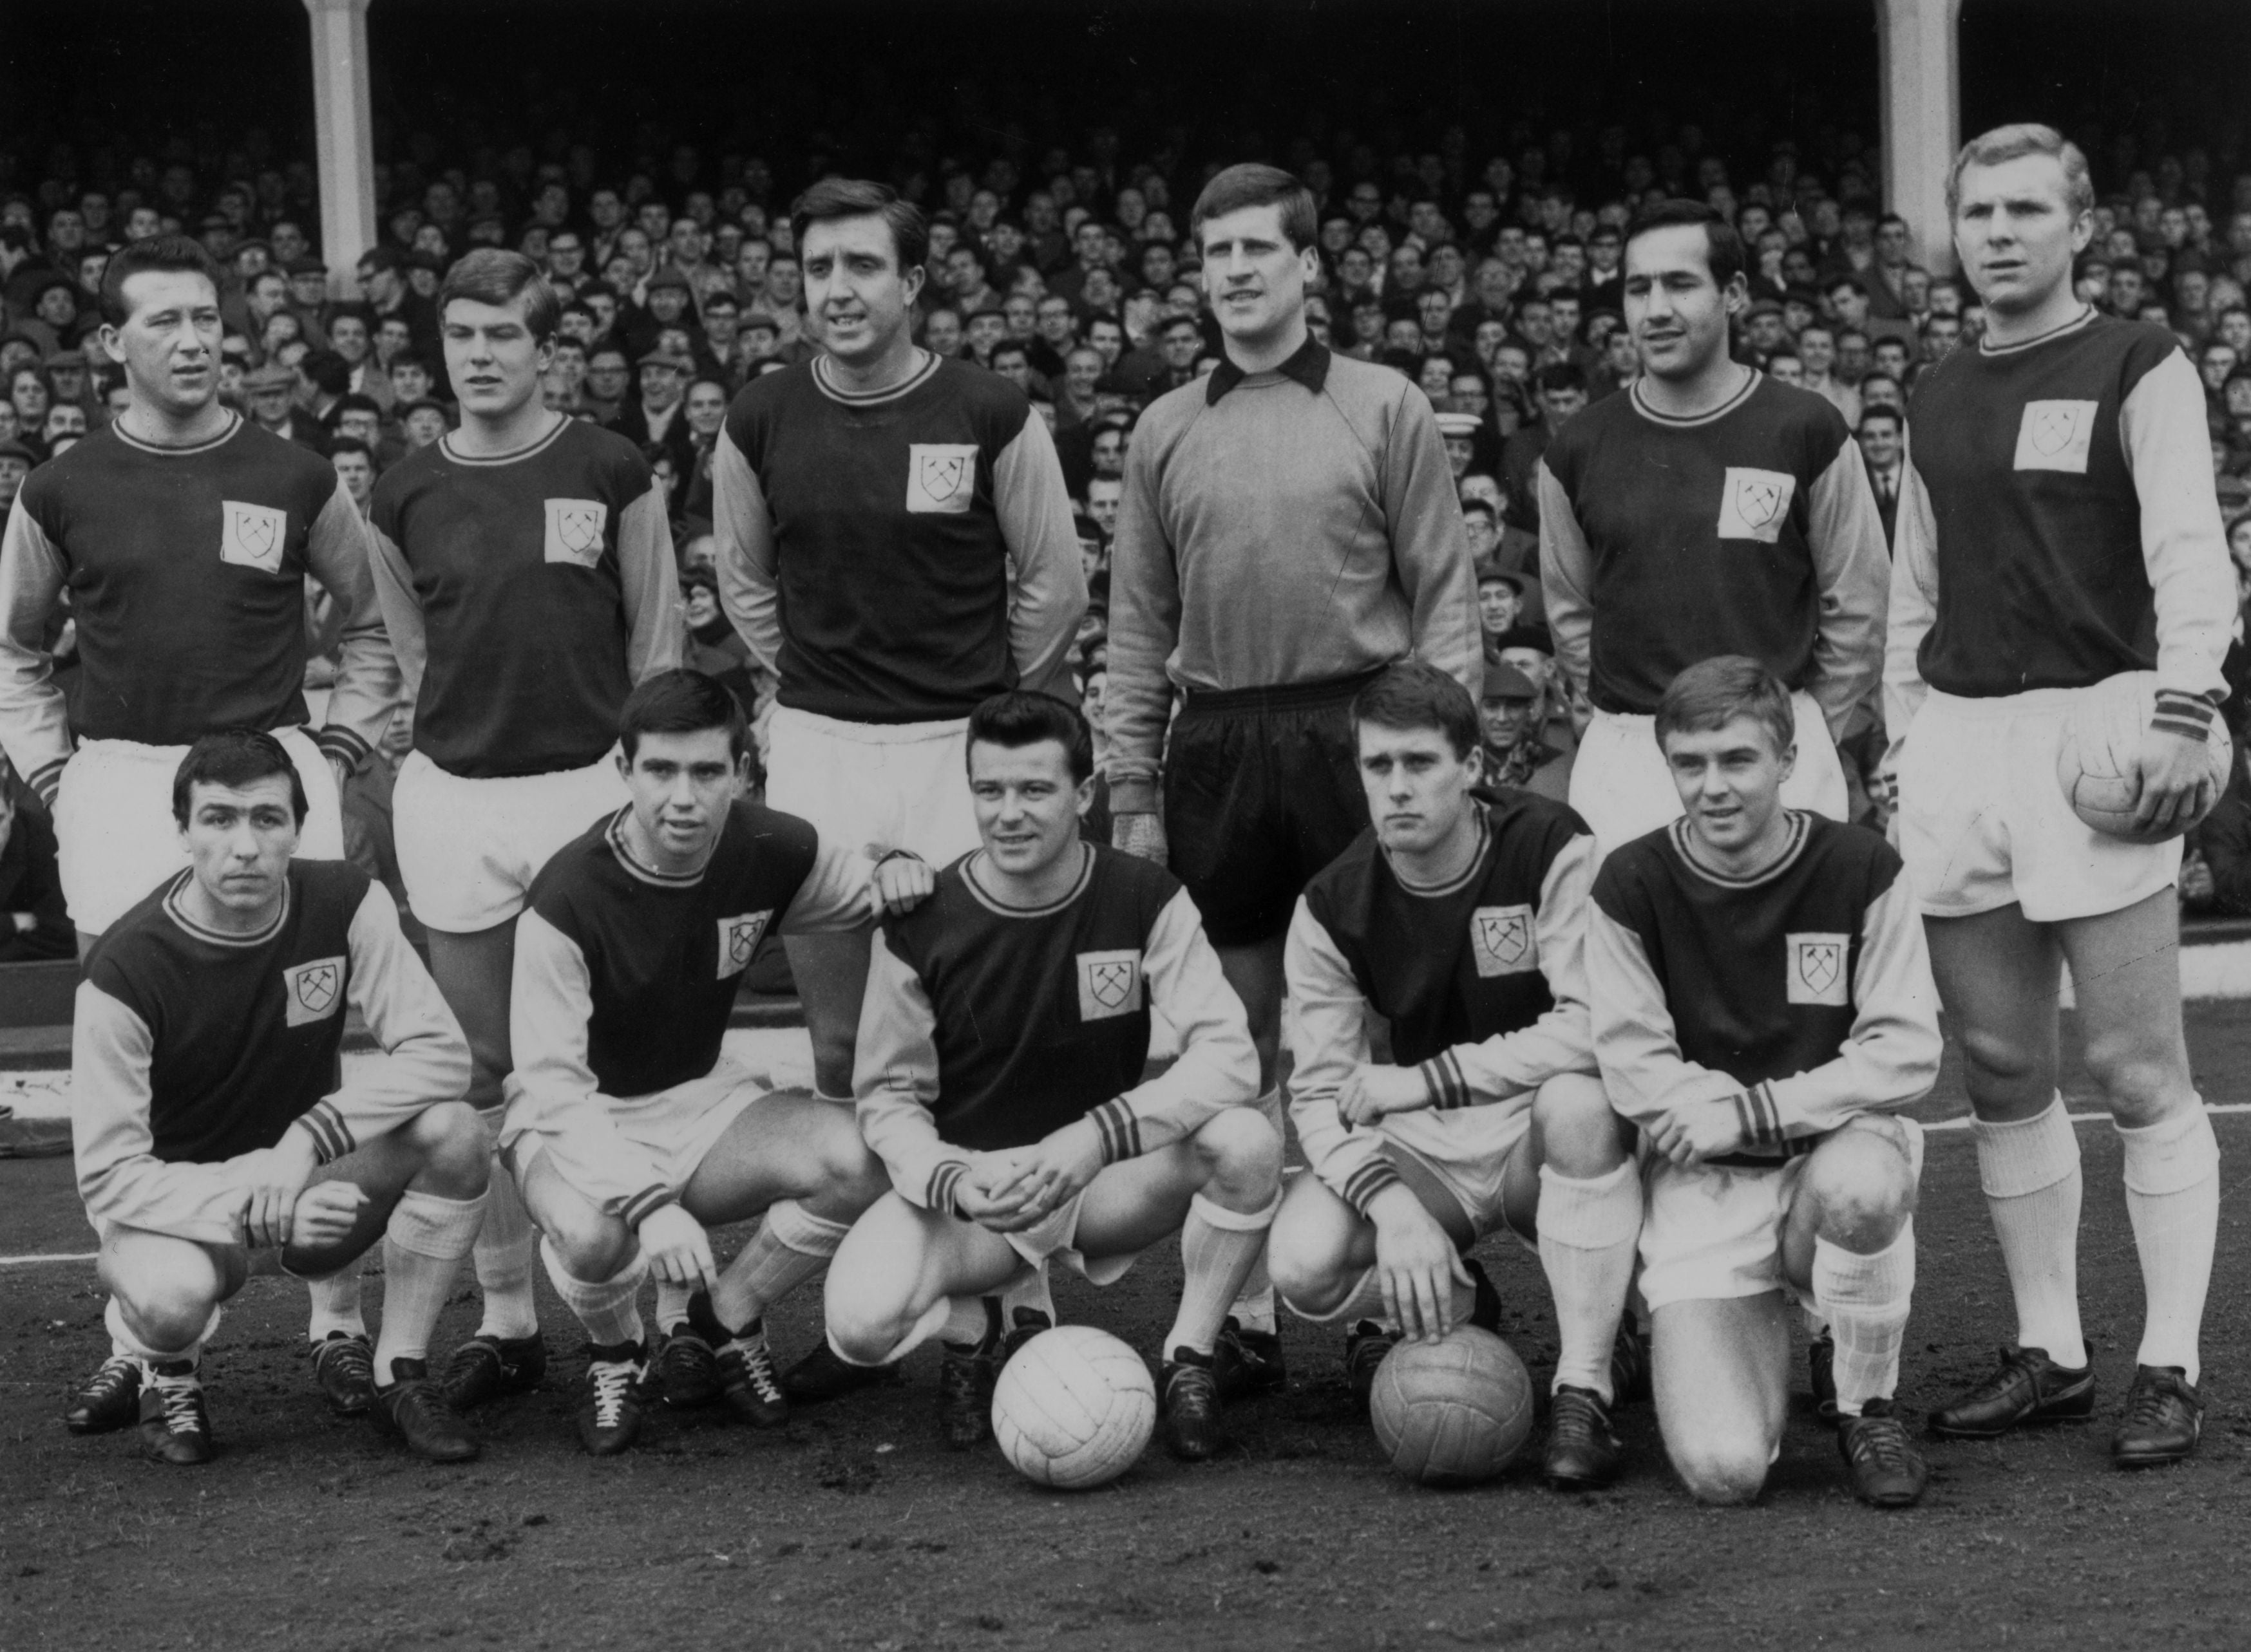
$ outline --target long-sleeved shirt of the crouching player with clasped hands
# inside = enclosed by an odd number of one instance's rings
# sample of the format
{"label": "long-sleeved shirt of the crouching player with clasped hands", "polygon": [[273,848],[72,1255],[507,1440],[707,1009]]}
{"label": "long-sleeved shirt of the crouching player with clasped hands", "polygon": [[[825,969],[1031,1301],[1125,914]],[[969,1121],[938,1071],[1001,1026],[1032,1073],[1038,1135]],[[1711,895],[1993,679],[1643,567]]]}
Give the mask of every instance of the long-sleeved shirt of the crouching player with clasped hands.
{"label": "long-sleeved shirt of the crouching player with clasped hands", "polygon": [[[1098,844],[1049,907],[1006,907],[984,851],[876,930],[853,1096],[860,1134],[909,1204],[954,1209],[970,1152],[1092,1119],[1116,1164],[1258,1094],[1243,999],[1171,873]],[[1180,1060],[1144,1083],[1150,1008]]]}

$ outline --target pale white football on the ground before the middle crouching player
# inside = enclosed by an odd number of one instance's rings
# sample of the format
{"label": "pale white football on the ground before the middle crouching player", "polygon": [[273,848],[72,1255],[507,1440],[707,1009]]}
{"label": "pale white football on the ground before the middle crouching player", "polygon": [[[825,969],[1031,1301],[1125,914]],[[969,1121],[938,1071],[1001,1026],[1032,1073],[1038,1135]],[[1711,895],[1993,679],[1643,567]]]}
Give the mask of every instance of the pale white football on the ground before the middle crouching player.
{"label": "pale white football on the ground before the middle crouching player", "polygon": [[993,1384],[993,1438],[1029,1481],[1107,1485],[1141,1461],[1157,1384],[1132,1348],[1094,1326],[1056,1326],[1017,1348]]}

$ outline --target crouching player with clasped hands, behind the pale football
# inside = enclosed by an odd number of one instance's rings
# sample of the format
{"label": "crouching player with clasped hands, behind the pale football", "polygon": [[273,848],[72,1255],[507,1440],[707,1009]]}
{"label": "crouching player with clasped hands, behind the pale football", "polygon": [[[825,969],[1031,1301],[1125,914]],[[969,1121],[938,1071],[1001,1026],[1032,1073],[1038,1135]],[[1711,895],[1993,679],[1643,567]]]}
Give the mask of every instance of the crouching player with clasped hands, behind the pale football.
{"label": "crouching player with clasped hands, behind the pale football", "polygon": [[[828,1344],[873,1366],[943,1332],[941,1418],[975,1445],[1002,1341],[979,1299],[1051,1256],[1107,1285],[1180,1233],[1159,1411],[1175,1456],[1216,1456],[1213,1344],[1281,1184],[1243,1002],[1168,871],[1080,844],[1094,747],[1074,707],[986,700],[968,770],[984,849],[876,932],[853,1087],[891,1193],[837,1251]],[[1182,1053],[1144,1083],[1150,1011]]]}

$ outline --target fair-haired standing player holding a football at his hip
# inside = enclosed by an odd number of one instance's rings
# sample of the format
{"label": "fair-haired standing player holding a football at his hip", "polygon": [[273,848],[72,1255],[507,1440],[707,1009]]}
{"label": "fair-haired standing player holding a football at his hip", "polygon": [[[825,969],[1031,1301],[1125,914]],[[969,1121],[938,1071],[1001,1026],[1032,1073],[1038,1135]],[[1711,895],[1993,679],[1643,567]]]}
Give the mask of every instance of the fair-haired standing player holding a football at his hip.
{"label": "fair-haired standing player holding a football at his hip", "polygon": [[2017,1346],[1931,1427],[1990,1438],[2093,1411],[2080,1148],[2055,1089],[2066,961],[2147,1292],[2111,1456],[2172,1463],[2204,1422],[2197,1332],[2219,1222],[2219,1146],[2181,1033],[2181,842],[2089,828],[2055,783],[2055,745],[2084,695],[2154,671],[2136,819],[2179,831],[2210,803],[2204,738],[2235,594],[2204,398],[2165,329],[2105,320],[2071,290],[2093,187],[2057,133],[1974,140],[1947,200],[1985,335],[1916,385],[1884,682],[1900,849],[1961,1024]]}

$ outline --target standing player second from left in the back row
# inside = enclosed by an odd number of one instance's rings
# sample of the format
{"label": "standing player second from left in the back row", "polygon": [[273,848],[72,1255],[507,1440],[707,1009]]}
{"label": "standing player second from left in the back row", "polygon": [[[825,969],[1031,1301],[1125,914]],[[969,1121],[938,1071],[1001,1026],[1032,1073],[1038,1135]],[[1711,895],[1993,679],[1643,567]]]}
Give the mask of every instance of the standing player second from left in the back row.
{"label": "standing player second from left in the back row", "polygon": [[[468,1033],[493,1137],[509,1071],[515,914],[556,849],[626,799],[610,747],[635,682],[680,664],[664,488],[624,437],[549,412],[563,308],[538,266],[484,248],[439,288],[461,428],[383,473],[369,522],[383,621],[414,702],[392,812],[430,972]],[[531,1222],[495,1166],[484,1317],[446,1371],[461,1409],[538,1386]]]}

